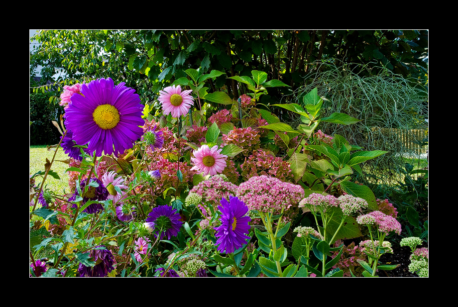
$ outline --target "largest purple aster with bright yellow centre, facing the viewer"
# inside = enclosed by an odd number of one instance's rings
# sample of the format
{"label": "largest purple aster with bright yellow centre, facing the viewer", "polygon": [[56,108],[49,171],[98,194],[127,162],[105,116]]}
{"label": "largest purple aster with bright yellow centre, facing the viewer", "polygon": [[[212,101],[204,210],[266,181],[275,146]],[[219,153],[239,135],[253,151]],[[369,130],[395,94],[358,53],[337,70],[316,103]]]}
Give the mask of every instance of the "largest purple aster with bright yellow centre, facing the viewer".
{"label": "largest purple aster with bright yellow centre, facing the viewer", "polygon": [[114,86],[111,78],[91,81],[73,95],[65,112],[65,125],[78,145],[89,142],[89,151],[101,156],[124,152],[143,134],[139,126],[143,105],[135,90],[123,82]]}

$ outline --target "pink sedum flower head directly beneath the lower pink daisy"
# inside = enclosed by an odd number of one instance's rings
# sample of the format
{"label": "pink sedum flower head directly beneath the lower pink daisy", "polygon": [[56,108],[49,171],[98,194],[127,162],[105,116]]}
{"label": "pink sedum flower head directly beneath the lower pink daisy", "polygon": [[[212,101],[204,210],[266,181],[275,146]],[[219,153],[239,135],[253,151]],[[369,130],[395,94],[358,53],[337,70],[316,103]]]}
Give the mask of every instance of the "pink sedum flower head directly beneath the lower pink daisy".
{"label": "pink sedum flower head directly beneath the lower pink daisy", "polygon": [[223,198],[229,199],[229,196],[235,196],[236,191],[236,185],[225,181],[223,176],[215,175],[194,186],[189,193],[202,196],[203,200],[212,203],[213,207],[217,209]]}

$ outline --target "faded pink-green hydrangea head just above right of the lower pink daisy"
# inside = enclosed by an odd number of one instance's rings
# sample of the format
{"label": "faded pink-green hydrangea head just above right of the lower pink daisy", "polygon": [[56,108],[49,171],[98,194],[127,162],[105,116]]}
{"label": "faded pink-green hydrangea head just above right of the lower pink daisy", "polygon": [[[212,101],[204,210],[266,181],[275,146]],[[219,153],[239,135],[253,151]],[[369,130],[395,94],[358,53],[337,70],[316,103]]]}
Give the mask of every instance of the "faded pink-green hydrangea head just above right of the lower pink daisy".
{"label": "faded pink-green hydrangea head just above right of the lower pink daisy", "polygon": [[[246,149],[243,155],[248,157],[250,152],[260,147],[259,132],[248,128],[236,128],[230,130],[228,134],[223,134],[223,146],[235,144],[242,149]],[[241,155],[238,154],[237,156]],[[236,156],[236,157],[237,157]]]}

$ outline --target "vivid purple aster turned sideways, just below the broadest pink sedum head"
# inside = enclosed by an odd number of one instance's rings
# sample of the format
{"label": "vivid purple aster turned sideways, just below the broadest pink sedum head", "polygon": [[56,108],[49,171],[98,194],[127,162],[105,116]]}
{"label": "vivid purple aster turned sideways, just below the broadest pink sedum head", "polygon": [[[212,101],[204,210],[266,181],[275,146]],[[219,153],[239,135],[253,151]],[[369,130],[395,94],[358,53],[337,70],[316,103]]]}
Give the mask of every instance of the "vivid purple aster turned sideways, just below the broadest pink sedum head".
{"label": "vivid purple aster turned sideways, just below the broadest pink sedum head", "polygon": [[222,224],[214,228],[217,230],[215,236],[218,237],[215,245],[219,244],[219,252],[226,251],[229,254],[246,244],[246,239],[250,238],[245,233],[248,233],[250,229],[248,222],[251,221],[251,218],[245,216],[248,207],[236,197],[229,196],[229,202],[222,199],[221,205],[223,206],[218,206],[218,209],[221,211]]}

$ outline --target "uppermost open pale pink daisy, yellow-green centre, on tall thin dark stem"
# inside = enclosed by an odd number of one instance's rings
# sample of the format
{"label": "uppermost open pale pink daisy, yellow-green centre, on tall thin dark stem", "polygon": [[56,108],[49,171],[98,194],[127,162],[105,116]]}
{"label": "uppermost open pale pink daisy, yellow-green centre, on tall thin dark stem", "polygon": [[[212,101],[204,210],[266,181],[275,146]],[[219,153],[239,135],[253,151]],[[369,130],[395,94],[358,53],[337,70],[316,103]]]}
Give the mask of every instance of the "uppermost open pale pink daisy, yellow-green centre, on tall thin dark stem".
{"label": "uppermost open pale pink daisy, yellow-green centre, on tall thin dark stem", "polygon": [[181,87],[172,85],[159,91],[160,95],[158,101],[162,103],[162,111],[164,115],[172,113],[173,117],[180,117],[186,115],[191,106],[194,105],[194,98],[189,93],[192,90],[181,91]]}

